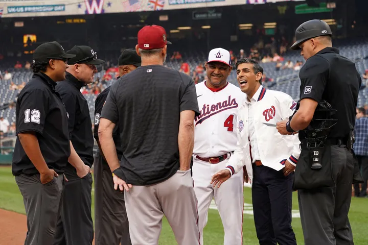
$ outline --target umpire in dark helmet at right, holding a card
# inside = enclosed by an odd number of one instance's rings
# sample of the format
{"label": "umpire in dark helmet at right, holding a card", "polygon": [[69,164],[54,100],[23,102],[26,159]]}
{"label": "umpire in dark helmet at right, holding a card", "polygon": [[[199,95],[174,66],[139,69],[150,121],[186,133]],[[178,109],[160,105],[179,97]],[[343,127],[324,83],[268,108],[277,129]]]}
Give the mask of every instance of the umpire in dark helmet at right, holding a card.
{"label": "umpire in dark helmet at right, holding a card", "polygon": [[[296,29],[295,36],[291,49],[300,49],[307,60],[299,75],[300,104],[291,120],[278,122],[277,127],[282,134],[299,131],[302,152],[294,188],[298,190],[305,244],[354,244],[348,218],[356,163],[351,135],[361,78],[355,64],[332,47],[332,32],[326,22],[307,21]],[[327,138],[319,142],[313,137],[326,129],[309,129],[320,124],[317,119],[323,119],[321,105],[336,110],[330,119],[337,120]],[[330,122],[325,120],[324,124]],[[311,142],[319,146],[315,148]]]}

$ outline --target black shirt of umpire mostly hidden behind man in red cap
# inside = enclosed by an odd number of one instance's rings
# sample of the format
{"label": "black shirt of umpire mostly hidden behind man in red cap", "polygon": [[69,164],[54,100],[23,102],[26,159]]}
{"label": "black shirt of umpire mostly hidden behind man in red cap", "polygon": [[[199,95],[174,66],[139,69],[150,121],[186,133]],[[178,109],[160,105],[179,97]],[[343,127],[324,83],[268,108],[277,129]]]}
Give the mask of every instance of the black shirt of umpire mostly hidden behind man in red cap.
{"label": "black shirt of umpire mostly hidden behind man in red cap", "polygon": [[[110,91],[111,86],[108,86],[107,88],[105,88],[105,90],[103,90],[96,98],[96,102],[95,102],[95,132],[94,132],[94,137],[95,139],[98,141],[98,128],[100,125],[100,118],[101,118],[101,112],[102,112],[102,107],[105,104],[106,98],[107,98],[107,94]],[[121,149],[121,143],[120,143],[120,133],[119,133],[119,124],[114,128],[113,132],[112,132],[112,138],[114,140],[115,143],[115,147],[117,150],[117,154],[119,159],[123,156],[123,151]],[[98,153],[100,153],[100,149],[98,150]]]}

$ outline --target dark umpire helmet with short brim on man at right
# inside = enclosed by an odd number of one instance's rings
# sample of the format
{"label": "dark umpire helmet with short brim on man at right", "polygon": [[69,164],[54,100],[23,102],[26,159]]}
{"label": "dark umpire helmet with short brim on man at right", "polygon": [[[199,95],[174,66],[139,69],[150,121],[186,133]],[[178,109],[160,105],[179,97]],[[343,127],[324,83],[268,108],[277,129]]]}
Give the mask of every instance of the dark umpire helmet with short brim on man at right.
{"label": "dark umpire helmet with short brim on man at right", "polygon": [[296,42],[290,47],[291,50],[300,50],[299,44],[313,37],[332,36],[331,28],[323,20],[312,19],[304,22],[295,31]]}

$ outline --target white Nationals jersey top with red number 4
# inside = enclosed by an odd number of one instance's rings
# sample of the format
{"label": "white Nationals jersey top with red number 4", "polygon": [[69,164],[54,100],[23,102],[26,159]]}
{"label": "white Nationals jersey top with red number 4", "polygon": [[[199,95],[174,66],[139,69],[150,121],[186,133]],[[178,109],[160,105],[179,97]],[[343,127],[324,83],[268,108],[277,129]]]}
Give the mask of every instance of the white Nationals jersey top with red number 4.
{"label": "white Nationals jersey top with red number 4", "polygon": [[237,113],[246,94],[231,83],[213,92],[202,82],[196,85],[196,90],[201,114],[194,118],[193,153],[200,157],[217,157],[235,151]]}

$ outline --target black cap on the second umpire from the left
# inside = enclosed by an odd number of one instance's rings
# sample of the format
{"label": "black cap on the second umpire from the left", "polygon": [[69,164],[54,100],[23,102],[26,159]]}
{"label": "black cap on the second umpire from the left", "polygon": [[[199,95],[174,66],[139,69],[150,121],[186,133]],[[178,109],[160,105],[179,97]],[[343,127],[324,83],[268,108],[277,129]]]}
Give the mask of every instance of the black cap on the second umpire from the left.
{"label": "black cap on the second umpire from the left", "polygon": [[75,55],[74,58],[68,60],[68,65],[74,64],[88,64],[88,65],[101,65],[104,60],[97,59],[97,52],[95,52],[89,46],[75,45],[71,50],[66,52],[67,54]]}

